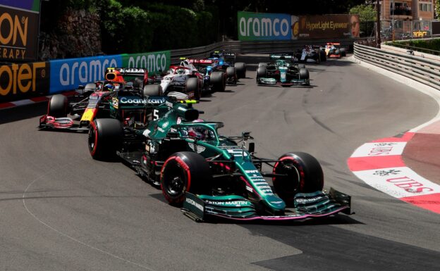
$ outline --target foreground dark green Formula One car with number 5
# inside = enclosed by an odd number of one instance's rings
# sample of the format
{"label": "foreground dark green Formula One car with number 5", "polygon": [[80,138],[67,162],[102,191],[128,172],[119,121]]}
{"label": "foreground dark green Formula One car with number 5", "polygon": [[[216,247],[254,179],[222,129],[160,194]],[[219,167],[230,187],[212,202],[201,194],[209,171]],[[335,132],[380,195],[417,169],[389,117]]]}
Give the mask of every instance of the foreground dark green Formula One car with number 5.
{"label": "foreground dark green Formula One car with number 5", "polygon": [[[185,215],[197,221],[350,214],[350,196],[334,189],[329,194],[322,191],[324,177],[316,158],[303,152],[275,160],[258,158],[255,144],[248,143],[249,132],[222,136],[218,130],[223,123],[200,120],[192,102],[156,106],[153,120],[144,127],[124,126],[116,119],[94,120],[88,140],[92,157],[116,154],[160,185],[171,205],[183,207]],[[263,165],[270,170],[262,170]]]}

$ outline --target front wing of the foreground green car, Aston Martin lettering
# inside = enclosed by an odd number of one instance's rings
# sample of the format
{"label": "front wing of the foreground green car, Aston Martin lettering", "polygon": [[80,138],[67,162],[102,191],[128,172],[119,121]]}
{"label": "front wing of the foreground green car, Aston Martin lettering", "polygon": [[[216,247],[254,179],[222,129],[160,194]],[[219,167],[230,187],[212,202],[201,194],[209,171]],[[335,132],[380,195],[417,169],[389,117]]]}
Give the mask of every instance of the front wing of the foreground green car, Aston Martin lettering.
{"label": "front wing of the foreground green car, Aston Martin lettering", "polygon": [[322,218],[336,213],[351,214],[351,197],[335,189],[300,193],[294,198],[293,208],[284,215],[260,215],[256,206],[242,196],[206,196],[186,193],[182,211],[189,218],[202,222],[209,218],[230,220],[305,220]]}

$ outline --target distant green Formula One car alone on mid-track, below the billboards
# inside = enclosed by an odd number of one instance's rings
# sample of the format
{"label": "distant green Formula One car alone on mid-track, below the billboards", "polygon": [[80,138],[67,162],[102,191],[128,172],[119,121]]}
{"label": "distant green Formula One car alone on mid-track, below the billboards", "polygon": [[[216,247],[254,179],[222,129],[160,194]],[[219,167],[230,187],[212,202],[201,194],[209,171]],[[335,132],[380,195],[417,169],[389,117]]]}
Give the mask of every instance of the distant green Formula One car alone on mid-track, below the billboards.
{"label": "distant green Formula One car alone on mid-track, below the billboards", "polygon": [[259,63],[257,84],[278,84],[283,87],[310,85],[309,71],[305,65],[295,63],[295,56],[286,53],[270,55],[271,63]]}

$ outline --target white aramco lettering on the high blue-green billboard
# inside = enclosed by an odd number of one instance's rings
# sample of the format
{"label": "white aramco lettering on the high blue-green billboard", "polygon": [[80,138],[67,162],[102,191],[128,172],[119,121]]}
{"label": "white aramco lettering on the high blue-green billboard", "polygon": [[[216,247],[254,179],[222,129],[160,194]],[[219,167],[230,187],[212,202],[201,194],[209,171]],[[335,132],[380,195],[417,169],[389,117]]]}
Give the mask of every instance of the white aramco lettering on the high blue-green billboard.
{"label": "white aramco lettering on the high blue-green billboard", "polygon": [[243,37],[279,37],[288,36],[291,25],[286,18],[242,17],[239,22],[240,35]]}

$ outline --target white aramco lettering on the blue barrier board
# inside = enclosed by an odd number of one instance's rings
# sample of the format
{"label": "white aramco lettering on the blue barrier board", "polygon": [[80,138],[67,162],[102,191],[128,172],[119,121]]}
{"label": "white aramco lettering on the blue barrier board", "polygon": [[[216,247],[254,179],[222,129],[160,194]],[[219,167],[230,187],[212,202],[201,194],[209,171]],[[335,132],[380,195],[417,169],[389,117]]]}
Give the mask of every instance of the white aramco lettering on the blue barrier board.
{"label": "white aramco lettering on the blue barrier board", "polygon": [[[59,70],[60,84],[68,86],[71,84],[87,83],[104,78],[107,67],[117,67],[116,59],[92,60],[92,61],[75,61],[63,63]],[[78,78],[79,82],[75,82]]]}

